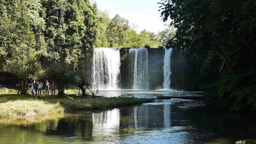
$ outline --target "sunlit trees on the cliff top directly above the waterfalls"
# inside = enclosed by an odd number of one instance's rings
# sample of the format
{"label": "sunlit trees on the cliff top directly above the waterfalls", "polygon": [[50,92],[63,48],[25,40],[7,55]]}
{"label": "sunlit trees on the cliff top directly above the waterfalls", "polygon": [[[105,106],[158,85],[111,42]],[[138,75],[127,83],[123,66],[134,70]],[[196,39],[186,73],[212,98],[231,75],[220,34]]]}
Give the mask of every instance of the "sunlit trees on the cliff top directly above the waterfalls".
{"label": "sunlit trees on the cliff top directly above the waterfalls", "polygon": [[110,20],[107,12],[98,13],[96,47],[158,47],[161,45],[156,34],[143,30],[138,34],[135,24],[116,14]]}

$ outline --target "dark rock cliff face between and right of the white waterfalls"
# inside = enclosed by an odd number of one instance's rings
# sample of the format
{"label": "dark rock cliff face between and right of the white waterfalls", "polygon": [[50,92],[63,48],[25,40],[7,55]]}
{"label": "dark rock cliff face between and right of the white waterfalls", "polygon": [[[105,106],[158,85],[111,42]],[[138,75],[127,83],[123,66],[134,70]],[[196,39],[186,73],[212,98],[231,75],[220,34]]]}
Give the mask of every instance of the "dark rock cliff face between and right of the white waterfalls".
{"label": "dark rock cliff face between and right of the white waterfalls", "polygon": [[[132,89],[131,71],[129,71],[129,49],[120,49],[120,87],[121,89]],[[163,66],[164,48],[148,48],[148,70],[149,89],[162,89],[163,87]],[[189,60],[185,55],[176,49],[172,50],[171,56],[171,84],[172,89],[200,90],[202,85],[211,83],[212,79],[200,75],[201,63],[196,59]]]}

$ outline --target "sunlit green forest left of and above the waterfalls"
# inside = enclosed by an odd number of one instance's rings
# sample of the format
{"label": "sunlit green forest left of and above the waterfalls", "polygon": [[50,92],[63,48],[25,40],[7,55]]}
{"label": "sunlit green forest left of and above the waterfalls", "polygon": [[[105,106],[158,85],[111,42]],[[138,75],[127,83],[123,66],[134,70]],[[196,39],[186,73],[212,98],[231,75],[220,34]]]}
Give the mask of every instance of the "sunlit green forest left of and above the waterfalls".
{"label": "sunlit green forest left of and above the waterfalls", "polygon": [[157,48],[174,32],[137,34],[130,25],[85,0],[0,1],[0,71],[22,78],[23,88],[29,79],[54,78],[62,94],[68,83],[86,84],[93,47]]}

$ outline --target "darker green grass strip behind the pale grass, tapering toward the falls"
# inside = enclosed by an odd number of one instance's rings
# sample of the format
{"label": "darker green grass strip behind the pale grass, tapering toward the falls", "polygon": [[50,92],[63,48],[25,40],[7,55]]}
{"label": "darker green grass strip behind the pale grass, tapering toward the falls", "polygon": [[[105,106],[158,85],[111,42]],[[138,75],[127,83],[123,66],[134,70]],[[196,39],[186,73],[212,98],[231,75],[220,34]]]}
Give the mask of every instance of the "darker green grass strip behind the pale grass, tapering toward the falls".
{"label": "darker green grass strip behind the pale grass, tapering toward the falls", "polygon": [[[131,105],[131,104],[141,104],[146,102],[153,102],[149,98],[127,98],[127,97],[94,97],[94,98],[85,98],[85,97],[72,97],[72,98],[60,98],[57,96],[40,96],[35,97],[31,95],[17,95],[17,94],[0,94],[0,104],[6,103],[9,101],[44,101],[49,104],[59,103],[60,106],[64,107],[65,111],[74,111],[74,110],[90,110],[90,109],[109,109],[113,107]],[[12,109],[14,110],[14,109]],[[4,109],[0,109],[4,111]],[[7,114],[5,114],[7,115]],[[21,113],[21,115],[23,115]],[[0,116],[1,117],[1,116]]]}

